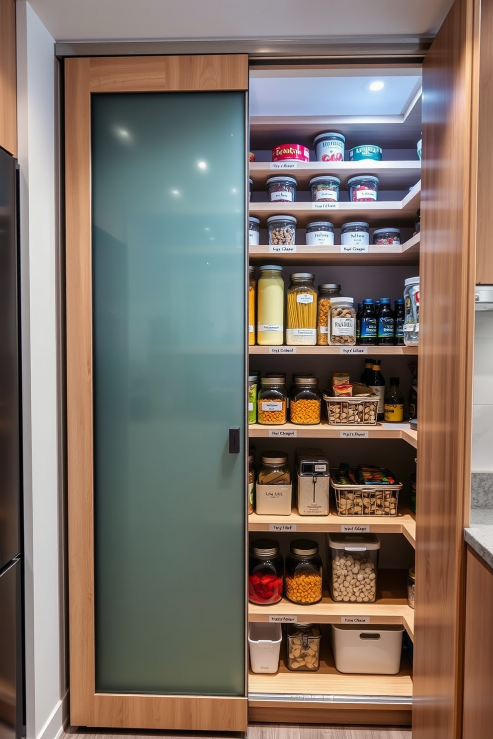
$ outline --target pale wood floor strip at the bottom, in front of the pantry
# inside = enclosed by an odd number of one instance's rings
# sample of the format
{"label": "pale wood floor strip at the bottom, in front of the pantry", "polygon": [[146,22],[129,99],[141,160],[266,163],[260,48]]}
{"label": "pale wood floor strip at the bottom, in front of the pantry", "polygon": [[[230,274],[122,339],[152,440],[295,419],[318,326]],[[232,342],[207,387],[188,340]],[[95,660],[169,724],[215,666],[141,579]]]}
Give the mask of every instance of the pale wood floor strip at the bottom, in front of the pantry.
{"label": "pale wood floor strip at the bottom, in front of the pantry", "polygon": [[[227,739],[228,736],[239,739],[242,734],[227,735],[209,732],[159,732],[139,733],[84,729],[78,726],[69,727],[61,739]],[[411,739],[411,729],[391,726],[364,728],[364,726],[298,726],[296,724],[252,723],[248,726],[247,739]]]}

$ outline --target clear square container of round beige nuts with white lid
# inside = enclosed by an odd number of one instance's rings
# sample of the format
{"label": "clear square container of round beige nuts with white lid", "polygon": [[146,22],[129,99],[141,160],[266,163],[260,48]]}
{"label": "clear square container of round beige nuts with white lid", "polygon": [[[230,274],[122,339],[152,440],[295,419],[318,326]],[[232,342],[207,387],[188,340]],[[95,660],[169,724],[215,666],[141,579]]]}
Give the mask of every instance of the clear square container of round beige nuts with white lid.
{"label": "clear square container of round beige nuts with white lid", "polygon": [[373,603],[377,596],[375,534],[327,534],[330,594],[338,603]]}

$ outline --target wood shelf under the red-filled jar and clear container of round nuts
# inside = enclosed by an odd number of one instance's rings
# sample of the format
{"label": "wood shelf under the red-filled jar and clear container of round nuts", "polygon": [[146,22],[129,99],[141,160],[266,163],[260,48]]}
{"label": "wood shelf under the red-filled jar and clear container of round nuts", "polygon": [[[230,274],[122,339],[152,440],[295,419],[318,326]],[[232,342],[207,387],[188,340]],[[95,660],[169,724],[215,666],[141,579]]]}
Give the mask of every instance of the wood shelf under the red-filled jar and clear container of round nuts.
{"label": "wood shelf under the red-filled jar and clear container of round nuts", "polygon": [[276,605],[248,603],[248,621],[270,621],[271,616],[295,616],[300,623],[340,624],[352,616],[370,619],[370,624],[403,624],[414,635],[414,610],[407,605],[407,570],[378,570],[375,603],[336,603],[324,590],[315,605],[296,605],[283,598]]}

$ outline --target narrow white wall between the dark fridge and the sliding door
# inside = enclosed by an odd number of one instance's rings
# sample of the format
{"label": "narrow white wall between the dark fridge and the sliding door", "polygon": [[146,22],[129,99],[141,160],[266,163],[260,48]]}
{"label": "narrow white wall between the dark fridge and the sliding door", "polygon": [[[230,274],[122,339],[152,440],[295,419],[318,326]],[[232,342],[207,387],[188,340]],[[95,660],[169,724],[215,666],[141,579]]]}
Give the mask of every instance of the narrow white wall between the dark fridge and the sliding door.
{"label": "narrow white wall between the dark fridge and the sliding door", "polygon": [[54,739],[67,692],[57,387],[58,63],[53,38],[33,9],[25,0],[16,6],[27,739]]}

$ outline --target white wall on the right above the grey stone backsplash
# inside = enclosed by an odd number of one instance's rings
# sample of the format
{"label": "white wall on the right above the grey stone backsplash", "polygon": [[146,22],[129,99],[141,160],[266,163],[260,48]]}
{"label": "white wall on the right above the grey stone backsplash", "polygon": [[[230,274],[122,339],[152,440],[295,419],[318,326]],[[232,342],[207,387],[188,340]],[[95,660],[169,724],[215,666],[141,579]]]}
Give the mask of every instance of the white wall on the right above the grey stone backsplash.
{"label": "white wall on the right above the grey stone backsplash", "polygon": [[475,316],[472,471],[493,472],[493,311]]}

